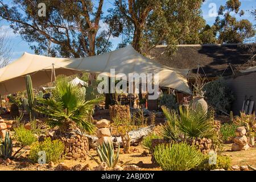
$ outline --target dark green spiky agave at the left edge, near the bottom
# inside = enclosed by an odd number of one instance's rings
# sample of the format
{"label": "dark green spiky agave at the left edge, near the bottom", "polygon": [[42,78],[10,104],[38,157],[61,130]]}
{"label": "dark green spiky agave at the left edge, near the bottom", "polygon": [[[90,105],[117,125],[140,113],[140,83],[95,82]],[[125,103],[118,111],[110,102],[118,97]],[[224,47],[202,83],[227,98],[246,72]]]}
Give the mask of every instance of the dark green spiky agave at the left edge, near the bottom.
{"label": "dark green spiky agave at the left edge, near the bottom", "polygon": [[0,157],[3,159],[11,158],[13,153],[13,141],[11,140],[9,132],[6,132],[5,141],[1,138]]}

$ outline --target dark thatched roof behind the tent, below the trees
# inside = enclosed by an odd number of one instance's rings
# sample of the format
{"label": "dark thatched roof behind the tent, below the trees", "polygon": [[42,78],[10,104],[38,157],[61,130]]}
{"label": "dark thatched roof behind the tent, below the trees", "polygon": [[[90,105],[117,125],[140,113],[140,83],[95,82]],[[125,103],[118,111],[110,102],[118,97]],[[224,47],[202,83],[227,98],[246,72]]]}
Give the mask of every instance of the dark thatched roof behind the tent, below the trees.
{"label": "dark thatched roof behind the tent, below the trees", "polygon": [[215,45],[179,45],[175,55],[168,55],[166,46],[156,46],[148,55],[158,63],[172,68],[192,69],[192,73],[199,73],[208,77],[232,75],[234,72],[246,69],[250,53],[246,46],[241,44],[215,44]]}

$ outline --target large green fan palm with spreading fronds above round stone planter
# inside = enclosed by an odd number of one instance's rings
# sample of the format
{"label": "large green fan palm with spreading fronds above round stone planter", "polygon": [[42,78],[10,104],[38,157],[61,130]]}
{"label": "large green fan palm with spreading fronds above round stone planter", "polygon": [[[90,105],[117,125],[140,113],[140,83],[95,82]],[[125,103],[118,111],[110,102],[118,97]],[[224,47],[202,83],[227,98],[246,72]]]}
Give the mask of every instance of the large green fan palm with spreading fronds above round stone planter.
{"label": "large green fan palm with spreading fronds above round stone planter", "polygon": [[90,113],[101,99],[85,101],[84,93],[78,86],[69,82],[67,77],[59,76],[52,97],[48,100],[38,98],[39,105],[35,106],[35,110],[48,115],[47,123],[51,127],[59,126],[62,131],[67,131],[75,122],[82,132],[93,133],[95,127],[89,122]]}

